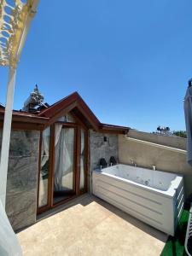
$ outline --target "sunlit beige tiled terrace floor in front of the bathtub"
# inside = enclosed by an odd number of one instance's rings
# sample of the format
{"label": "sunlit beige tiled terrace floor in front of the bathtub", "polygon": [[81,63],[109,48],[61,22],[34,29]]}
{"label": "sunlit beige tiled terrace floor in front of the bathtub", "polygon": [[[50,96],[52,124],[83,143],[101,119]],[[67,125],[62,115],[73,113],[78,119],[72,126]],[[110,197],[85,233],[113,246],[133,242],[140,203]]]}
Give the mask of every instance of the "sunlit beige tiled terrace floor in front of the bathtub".
{"label": "sunlit beige tiled terrace floor in front of the bathtub", "polygon": [[66,207],[17,234],[24,255],[155,256],[166,242],[164,233],[96,197]]}

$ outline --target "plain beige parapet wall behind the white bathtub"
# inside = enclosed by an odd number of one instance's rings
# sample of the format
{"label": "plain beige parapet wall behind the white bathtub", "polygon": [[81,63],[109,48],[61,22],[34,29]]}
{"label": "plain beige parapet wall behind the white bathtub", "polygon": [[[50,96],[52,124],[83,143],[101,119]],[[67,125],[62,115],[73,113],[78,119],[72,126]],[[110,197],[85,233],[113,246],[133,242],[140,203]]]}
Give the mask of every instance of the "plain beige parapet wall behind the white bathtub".
{"label": "plain beige parapet wall behind the white bathtub", "polygon": [[[186,148],[186,139],[181,137],[165,137],[140,131],[129,131],[128,137],[172,148]],[[186,161],[186,154],[130,141],[125,136],[119,135],[119,162],[130,165],[132,160],[137,163],[137,166],[150,169],[156,166],[160,171],[182,174],[186,195],[192,193],[192,167]]]}

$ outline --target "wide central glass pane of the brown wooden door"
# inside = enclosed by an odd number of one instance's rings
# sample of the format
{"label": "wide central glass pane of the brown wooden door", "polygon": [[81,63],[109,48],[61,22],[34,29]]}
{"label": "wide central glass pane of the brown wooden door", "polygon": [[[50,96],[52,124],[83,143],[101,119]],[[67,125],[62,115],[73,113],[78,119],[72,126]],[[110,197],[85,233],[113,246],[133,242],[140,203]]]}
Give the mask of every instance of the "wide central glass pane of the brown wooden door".
{"label": "wide central glass pane of the brown wooden door", "polygon": [[55,125],[53,204],[75,195],[75,128]]}

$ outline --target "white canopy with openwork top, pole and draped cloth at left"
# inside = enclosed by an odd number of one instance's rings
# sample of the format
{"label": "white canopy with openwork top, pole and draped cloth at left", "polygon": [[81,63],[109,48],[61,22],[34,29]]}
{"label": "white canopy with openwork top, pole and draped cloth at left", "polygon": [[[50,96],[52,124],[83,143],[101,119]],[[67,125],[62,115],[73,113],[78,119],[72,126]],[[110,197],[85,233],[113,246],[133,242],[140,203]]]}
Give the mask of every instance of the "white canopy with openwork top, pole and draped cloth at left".
{"label": "white canopy with openwork top, pole and draped cloth at left", "polygon": [[20,243],[7,218],[5,207],[7,173],[9,161],[9,141],[14,101],[15,74],[21,50],[38,0],[0,1],[0,65],[9,66],[7,99],[3,120],[3,138],[0,161],[0,255],[22,255]]}

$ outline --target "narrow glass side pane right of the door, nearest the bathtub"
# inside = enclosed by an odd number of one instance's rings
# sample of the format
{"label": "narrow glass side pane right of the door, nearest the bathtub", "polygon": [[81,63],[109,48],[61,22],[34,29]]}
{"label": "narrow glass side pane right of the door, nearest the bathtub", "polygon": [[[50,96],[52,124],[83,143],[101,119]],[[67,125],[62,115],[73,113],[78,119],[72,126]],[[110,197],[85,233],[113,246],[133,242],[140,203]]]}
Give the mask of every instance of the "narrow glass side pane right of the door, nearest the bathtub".
{"label": "narrow glass side pane right of the door, nearest the bathtub", "polygon": [[84,140],[85,140],[85,132],[81,129],[81,154],[80,154],[80,189],[84,189],[84,171],[85,171],[85,147],[84,147]]}

